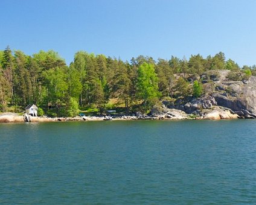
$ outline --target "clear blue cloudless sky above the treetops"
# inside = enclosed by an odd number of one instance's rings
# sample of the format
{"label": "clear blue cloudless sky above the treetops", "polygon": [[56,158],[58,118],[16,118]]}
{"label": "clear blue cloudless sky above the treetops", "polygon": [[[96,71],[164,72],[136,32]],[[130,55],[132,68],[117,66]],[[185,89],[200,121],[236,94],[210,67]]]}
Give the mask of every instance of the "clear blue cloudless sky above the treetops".
{"label": "clear blue cloudless sky above the treetops", "polygon": [[129,60],[170,59],[222,51],[256,64],[255,0],[1,0],[0,49],[32,55],[53,49]]}

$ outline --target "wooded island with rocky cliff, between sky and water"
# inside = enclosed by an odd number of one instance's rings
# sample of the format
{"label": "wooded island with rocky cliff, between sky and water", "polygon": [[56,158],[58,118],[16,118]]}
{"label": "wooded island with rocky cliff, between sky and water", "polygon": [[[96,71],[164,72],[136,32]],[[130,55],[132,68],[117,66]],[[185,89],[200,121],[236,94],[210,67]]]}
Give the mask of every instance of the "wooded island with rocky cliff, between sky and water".
{"label": "wooded island with rocky cliff, between sky and water", "polygon": [[78,51],[66,65],[54,51],[30,56],[7,46],[0,51],[0,118],[32,104],[37,116],[57,119],[256,118],[255,68],[240,68],[223,52],[123,62]]}

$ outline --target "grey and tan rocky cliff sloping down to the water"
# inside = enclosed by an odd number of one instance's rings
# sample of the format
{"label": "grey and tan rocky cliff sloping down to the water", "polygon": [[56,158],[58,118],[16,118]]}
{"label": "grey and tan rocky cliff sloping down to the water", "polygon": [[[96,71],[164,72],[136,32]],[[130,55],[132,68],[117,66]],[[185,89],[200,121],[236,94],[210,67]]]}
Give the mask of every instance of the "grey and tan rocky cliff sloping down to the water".
{"label": "grey and tan rocky cliff sloping down to the water", "polygon": [[[162,101],[162,106],[154,106],[152,115],[168,116],[171,109],[180,110],[187,118],[229,119],[256,118],[256,77],[248,80],[228,80],[230,71],[216,71],[218,77],[211,83],[203,83],[201,98]],[[185,118],[184,113],[180,118]],[[169,118],[170,116],[168,116]],[[176,118],[179,118],[177,115]]]}

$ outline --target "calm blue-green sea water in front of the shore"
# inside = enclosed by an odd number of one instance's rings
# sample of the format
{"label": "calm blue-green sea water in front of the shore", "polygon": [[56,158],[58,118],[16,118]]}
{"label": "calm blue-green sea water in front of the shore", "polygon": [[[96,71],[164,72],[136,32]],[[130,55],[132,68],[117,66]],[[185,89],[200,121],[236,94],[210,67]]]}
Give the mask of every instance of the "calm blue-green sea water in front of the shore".
{"label": "calm blue-green sea water in front of the shore", "polygon": [[256,203],[256,121],[0,124],[0,203]]}

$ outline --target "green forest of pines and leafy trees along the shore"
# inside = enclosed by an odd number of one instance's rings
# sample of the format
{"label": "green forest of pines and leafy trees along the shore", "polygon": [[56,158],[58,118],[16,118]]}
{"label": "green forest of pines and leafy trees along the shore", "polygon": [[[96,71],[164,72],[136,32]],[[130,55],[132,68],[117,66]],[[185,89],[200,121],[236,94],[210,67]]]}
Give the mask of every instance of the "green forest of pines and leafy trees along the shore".
{"label": "green forest of pines and leafy trees along the shore", "polygon": [[22,113],[28,104],[36,104],[39,115],[51,117],[102,115],[112,109],[147,113],[162,99],[200,97],[203,81],[211,82],[214,71],[223,69],[232,71],[230,80],[256,75],[256,66],[240,68],[223,52],[169,60],[139,55],[124,62],[78,51],[66,65],[54,51],[30,56],[7,46],[0,51],[0,112]]}

